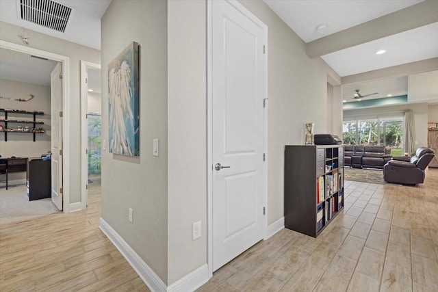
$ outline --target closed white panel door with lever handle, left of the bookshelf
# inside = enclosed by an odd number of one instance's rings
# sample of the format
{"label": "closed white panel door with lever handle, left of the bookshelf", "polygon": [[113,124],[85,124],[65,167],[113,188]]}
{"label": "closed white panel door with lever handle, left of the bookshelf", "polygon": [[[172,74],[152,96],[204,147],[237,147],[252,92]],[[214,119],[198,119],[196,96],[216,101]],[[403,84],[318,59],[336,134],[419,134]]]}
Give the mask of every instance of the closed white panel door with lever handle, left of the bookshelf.
{"label": "closed white panel door with lever handle, left of the bookshelf", "polygon": [[211,1],[213,270],[263,239],[265,29]]}

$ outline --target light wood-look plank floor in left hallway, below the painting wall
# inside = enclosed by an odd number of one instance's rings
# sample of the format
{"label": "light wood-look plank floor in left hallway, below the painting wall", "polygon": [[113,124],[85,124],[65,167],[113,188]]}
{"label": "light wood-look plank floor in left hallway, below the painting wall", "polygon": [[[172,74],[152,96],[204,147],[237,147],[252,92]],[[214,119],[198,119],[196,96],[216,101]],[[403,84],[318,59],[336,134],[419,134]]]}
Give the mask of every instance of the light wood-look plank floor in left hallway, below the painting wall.
{"label": "light wood-look plank floor in left hallway, below the painting wall", "polygon": [[88,198],[85,211],[0,226],[1,292],[149,291],[99,229],[100,187]]}

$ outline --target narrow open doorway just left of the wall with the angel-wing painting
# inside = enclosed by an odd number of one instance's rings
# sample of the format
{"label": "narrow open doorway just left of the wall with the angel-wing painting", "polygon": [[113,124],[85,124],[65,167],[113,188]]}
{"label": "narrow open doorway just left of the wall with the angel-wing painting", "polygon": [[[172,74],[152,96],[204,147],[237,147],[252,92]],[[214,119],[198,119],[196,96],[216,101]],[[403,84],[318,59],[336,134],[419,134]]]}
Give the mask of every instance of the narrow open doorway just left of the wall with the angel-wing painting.
{"label": "narrow open doorway just left of the wall with the angel-wing painting", "polygon": [[88,194],[101,192],[101,66],[81,61],[81,191],[83,208]]}

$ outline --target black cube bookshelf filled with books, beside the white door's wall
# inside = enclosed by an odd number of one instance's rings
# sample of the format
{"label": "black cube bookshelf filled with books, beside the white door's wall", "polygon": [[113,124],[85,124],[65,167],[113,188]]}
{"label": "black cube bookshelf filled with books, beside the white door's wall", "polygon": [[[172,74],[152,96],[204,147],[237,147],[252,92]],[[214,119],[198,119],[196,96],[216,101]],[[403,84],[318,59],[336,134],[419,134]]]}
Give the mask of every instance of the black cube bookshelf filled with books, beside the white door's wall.
{"label": "black cube bookshelf filled with books, beside the white door's wall", "polygon": [[344,208],[344,146],[285,146],[285,227],[317,237]]}

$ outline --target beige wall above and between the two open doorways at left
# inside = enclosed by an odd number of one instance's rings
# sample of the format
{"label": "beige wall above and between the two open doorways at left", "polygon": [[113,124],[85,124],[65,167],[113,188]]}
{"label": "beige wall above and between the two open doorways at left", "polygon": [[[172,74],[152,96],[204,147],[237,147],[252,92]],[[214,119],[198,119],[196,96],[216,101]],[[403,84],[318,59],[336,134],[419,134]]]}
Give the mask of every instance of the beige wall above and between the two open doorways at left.
{"label": "beige wall above and between the two open doorways at left", "polygon": [[[70,67],[68,71],[69,87],[68,87],[68,117],[69,124],[69,149],[68,153],[70,160],[64,161],[64,164],[68,165],[70,189],[70,204],[74,204],[81,201],[81,168],[77,161],[81,161],[81,98],[80,98],[80,61],[88,61],[96,64],[101,63],[101,53],[95,49],[83,47],[73,42],[67,42],[60,38],[53,38],[45,34],[40,34],[36,31],[27,30],[31,41],[29,47],[55,53],[57,55],[63,55],[69,58]],[[17,36],[23,34],[23,28],[9,23],[0,23],[0,39],[6,42],[12,42],[14,44],[23,45],[21,39]]]}

